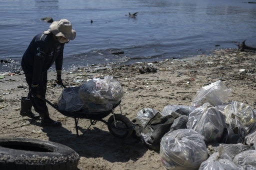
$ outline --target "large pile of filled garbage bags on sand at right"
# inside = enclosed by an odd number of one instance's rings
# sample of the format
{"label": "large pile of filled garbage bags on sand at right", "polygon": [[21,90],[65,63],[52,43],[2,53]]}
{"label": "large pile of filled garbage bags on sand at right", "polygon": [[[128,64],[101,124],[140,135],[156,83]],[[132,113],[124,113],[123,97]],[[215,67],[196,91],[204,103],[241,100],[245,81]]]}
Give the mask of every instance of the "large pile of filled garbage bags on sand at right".
{"label": "large pile of filled garbage bags on sand at right", "polygon": [[135,135],[168,170],[256,169],[255,111],[225,103],[230,92],[218,80],[199,89],[191,106],[141,109],[132,120]]}

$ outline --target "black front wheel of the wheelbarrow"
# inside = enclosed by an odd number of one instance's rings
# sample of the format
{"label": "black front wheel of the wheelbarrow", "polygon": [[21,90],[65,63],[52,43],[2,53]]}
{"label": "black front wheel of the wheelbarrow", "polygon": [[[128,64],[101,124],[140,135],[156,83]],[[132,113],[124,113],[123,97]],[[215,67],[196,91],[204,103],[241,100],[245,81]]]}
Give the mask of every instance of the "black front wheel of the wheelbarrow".
{"label": "black front wheel of the wheelbarrow", "polygon": [[107,120],[109,132],[119,138],[128,138],[132,134],[132,127],[130,120],[121,114],[115,114],[114,117],[111,115]]}

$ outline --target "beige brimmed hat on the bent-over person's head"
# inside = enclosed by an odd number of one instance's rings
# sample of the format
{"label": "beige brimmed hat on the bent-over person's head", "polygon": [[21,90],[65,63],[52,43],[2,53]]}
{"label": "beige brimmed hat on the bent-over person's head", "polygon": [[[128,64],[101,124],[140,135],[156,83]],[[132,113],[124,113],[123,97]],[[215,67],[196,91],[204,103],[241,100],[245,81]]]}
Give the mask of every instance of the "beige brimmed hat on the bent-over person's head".
{"label": "beige brimmed hat on the bent-over person's head", "polygon": [[44,34],[52,32],[55,36],[63,36],[66,39],[73,40],[75,38],[75,30],[72,29],[71,23],[67,19],[60,19],[59,21],[53,21],[49,29],[44,31]]}

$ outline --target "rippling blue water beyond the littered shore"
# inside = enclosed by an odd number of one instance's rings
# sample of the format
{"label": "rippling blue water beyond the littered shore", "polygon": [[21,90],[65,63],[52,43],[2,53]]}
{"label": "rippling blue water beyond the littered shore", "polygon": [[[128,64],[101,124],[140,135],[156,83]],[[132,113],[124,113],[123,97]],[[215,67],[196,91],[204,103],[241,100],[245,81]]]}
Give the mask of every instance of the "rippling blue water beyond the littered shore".
{"label": "rippling blue water beyond the littered shore", "polygon": [[[256,4],[245,0],[0,0],[0,15],[0,72],[20,69],[33,36],[48,29],[46,16],[76,30],[65,70],[192,57],[244,39],[256,47]],[[117,49],[124,53],[109,52]]]}

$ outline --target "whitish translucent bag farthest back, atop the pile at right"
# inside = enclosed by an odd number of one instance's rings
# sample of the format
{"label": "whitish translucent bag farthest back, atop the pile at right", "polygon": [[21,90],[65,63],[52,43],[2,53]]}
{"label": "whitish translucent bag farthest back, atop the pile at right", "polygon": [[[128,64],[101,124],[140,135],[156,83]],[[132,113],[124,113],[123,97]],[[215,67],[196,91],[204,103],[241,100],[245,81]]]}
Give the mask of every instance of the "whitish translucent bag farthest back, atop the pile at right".
{"label": "whitish translucent bag farthest back, atop the pile at right", "polygon": [[230,92],[231,89],[227,88],[220,80],[218,80],[200,88],[197,91],[195,98],[192,100],[191,105],[193,107],[199,107],[204,103],[210,103],[212,106],[221,105],[226,101]]}

